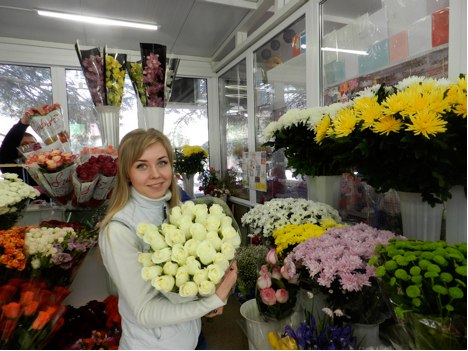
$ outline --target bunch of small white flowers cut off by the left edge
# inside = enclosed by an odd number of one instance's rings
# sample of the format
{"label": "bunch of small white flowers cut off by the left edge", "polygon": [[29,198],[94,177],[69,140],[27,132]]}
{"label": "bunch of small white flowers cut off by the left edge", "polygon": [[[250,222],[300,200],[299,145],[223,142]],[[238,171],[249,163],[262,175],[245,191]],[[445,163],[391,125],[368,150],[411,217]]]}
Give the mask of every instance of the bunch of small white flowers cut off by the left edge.
{"label": "bunch of small white flowers cut off by the left edge", "polygon": [[27,202],[40,195],[16,173],[0,175],[0,230],[10,229],[18,221]]}

